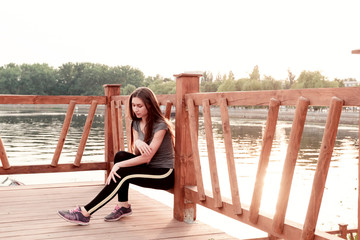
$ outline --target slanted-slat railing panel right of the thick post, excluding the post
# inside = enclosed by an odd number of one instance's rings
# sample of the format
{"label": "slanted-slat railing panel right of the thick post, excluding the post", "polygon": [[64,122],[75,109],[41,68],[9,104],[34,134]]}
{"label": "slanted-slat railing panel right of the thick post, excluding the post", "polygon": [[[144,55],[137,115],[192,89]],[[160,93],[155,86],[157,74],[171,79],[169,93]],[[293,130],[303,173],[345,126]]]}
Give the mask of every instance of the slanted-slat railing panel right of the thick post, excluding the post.
{"label": "slanted-slat railing panel right of the thick post, excluding the post", "polygon": [[[197,177],[195,186],[186,186],[185,198],[187,201],[196,202],[214,211],[220,212],[231,218],[254,226],[269,233],[269,238],[280,239],[340,239],[338,236],[316,230],[316,223],[322,196],[325,189],[326,176],[332,157],[336,133],[339,125],[340,115],[343,106],[360,106],[360,88],[336,88],[336,89],[301,89],[301,90],[280,90],[280,91],[259,91],[259,92],[225,92],[225,93],[188,93],[185,94],[185,102],[189,114],[190,126],[194,126],[194,108],[202,106],[206,141],[208,144],[208,158],[210,166],[210,176],[212,178],[212,192],[205,190],[203,195],[201,175]],[[232,140],[227,108],[229,106],[266,106],[268,105],[268,117],[266,129],[263,133],[263,144],[258,163],[258,170],[253,189],[253,198],[250,207],[242,203],[240,205],[239,194],[237,192],[237,177],[233,164],[234,153],[232,150]],[[218,173],[216,170],[215,154],[213,152],[213,140],[211,129],[211,117],[209,116],[210,106],[219,106],[221,111],[223,138],[225,142],[226,158],[229,170],[229,185],[231,188],[232,199],[225,199],[217,195],[220,191],[217,185]],[[271,154],[271,147],[274,139],[277,118],[280,106],[295,106],[296,111],[290,132],[287,154],[284,161],[282,178],[278,201],[276,204],[275,215],[259,213],[262,188],[266,175],[266,168]],[[315,176],[311,197],[307,209],[304,224],[296,224],[286,220],[286,210],[292,186],[295,165],[300,150],[300,142],[305,127],[306,115],[309,106],[328,106],[329,112],[325,125],[322,145]],[[241,111],[241,108],[238,110]],[[185,124],[185,123],[184,123]],[[360,124],[360,123],[359,123]],[[191,127],[191,136],[194,154],[197,152],[197,142],[194,136],[197,130]],[[196,154],[195,154],[196,155]],[[359,151],[360,155],[360,151]],[[193,157],[194,165],[197,157]],[[195,167],[198,169],[199,167]],[[198,172],[198,170],[195,170]],[[233,177],[231,177],[233,176]],[[240,183],[241,184],[241,183]],[[264,199],[266,200],[266,199]],[[241,211],[239,212],[239,206]],[[305,211],[306,209],[304,209]],[[242,214],[241,214],[242,213]],[[358,216],[358,219],[360,215]],[[357,230],[358,231],[358,230]],[[342,230],[342,234],[344,234]],[[340,233],[338,231],[338,233]],[[350,232],[349,232],[350,233]]]}

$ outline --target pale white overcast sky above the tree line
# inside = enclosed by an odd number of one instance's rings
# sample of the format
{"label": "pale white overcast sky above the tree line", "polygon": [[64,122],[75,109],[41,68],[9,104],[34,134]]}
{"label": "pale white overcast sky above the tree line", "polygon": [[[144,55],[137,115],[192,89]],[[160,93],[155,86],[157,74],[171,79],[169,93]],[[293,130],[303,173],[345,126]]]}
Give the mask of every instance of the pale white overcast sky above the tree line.
{"label": "pale white overcast sky above the tree line", "polygon": [[0,66],[92,62],[360,81],[358,0],[0,0]]}

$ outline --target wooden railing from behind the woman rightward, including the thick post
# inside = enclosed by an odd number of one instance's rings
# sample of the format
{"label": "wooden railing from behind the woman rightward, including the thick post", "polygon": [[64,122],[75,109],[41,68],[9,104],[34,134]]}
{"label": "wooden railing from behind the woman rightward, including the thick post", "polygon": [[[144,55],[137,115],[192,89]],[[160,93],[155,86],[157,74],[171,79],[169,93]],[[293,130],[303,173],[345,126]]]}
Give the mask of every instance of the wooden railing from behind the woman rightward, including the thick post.
{"label": "wooden railing from behind the woman rightward, including the thick post", "polygon": [[[268,232],[269,239],[341,239],[340,237],[344,237],[346,233],[357,231],[340,228],[339,231],[332,232],[333,234],[340,234],[338,237],[330,233],[315,231],[315,227],[342,107],[360,105],[360,88],[199,93],[199,75],[181,74],[176,77],[176,96],[166,95],[163,96],[163,98],[159,96],[161,105],[166,105],[166,114],[170,113],[171,106],[174,102],[176,106],[176,174],[175,187],[173,190],[174,217],[176,219],[190,222],[195,220],[196,204],[200,204]],[[125,108],[127,107],[127,98],[127,96],[113,96],[111,98],[112,126],[114,129],[113,132],[116,133],[116,136],[113,136],[115,150],[116,146],[119,146],[118,148],[120,149],[124,148],[124,136],[121,135],[122,131],[119,131],[119,129],[123,128],[121,119],[121,113],[123,111],[122,105]],[[201,170],[198,148],[200,106],[202,107],[204,119],[212,191],[204,189]],[[221,112],[231,199],[226,199],[221,195],[210,106],[218,106]],[[246,205],[240,201],[230,131],[229,106],[268,106],[266,129],[263,134],[258,171],[250,205]],[[296,111],[291,128],[276,211],[275,215],[272,216],[264,213],[260,214],[259,209],[280,106],[292,106],[296,108]],[[285,214],[309,106],[328,106],[329,113],[320,149],[318,167],[315,172],[313,190],[307,209],[307,216],[304,225],[301,225],[286,220]],[[125,109],[125,111],[127,112],[127,109]],[[126,135],[129,136],[129,122],[125,123],[125,128]],[[304,209],[304,211],[305,210],[306,209]]]}

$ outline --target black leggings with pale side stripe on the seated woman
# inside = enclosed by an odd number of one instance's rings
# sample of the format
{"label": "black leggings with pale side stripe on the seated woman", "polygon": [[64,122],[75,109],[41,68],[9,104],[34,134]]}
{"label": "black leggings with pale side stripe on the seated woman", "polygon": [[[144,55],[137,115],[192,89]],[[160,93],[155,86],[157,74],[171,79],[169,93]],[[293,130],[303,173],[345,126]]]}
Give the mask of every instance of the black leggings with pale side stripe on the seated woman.
{"label": "black leggings with pale side stripe on the seated woman", "polygon": [[[132,153],[120,151],[116,153],[114,163],[134,157],[136,155]],[[141,187],[163,190],[174,186],[174,169],[172,168],[150,168],[147,164],[141,164],[134,167],[120,168],[117,173],[121,178],[115,176],[116,183],[111,180],[109,185],[105,185],[100,193],[84,206],[90,214],[111,201],[116,194],[119,202],[127,202],[130,183]]]}

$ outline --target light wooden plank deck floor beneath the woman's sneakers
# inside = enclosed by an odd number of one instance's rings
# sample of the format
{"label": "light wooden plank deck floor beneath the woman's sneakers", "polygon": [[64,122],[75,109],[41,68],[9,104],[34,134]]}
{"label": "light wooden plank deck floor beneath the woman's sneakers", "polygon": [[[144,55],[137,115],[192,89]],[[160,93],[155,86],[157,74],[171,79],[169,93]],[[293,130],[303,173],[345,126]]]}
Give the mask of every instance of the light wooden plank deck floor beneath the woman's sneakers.
{"label": "light wooden plank deck floor beneath the woman's sneakers", "polygon": [[96,212],[88,226],[67,223],[57,215],[57,210],[87,203],[101,188],[98,183],[1,187],[0,239],[235,239],[198,221],[178,222],[169,206],[134,189],[133,214],[120,221],[103,220],[116,199]]}

